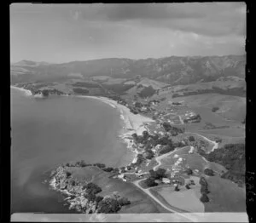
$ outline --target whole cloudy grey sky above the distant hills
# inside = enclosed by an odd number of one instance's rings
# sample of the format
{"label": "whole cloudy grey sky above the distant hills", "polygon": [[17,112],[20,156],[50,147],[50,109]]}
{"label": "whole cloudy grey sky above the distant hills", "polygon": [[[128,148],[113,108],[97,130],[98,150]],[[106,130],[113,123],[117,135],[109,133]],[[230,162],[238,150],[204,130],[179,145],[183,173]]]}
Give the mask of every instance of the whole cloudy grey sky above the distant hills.
{"label": "whole cloudy grey sky above the distant hills", "polygon": [[245,3],[10,5],[11,62],[246,54]]}

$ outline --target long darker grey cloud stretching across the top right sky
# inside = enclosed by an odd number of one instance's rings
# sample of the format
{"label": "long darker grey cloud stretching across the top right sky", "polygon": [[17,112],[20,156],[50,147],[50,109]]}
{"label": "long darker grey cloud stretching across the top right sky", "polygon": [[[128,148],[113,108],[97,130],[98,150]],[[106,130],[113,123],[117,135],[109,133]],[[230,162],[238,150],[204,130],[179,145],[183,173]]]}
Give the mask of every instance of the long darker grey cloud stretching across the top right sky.
{"label": "long darker grey cloud stretching across the top right sky", "polygon": [[159,26],[205,36],[246,34],[244,3],[96,4],[83,9],[84,20]]}

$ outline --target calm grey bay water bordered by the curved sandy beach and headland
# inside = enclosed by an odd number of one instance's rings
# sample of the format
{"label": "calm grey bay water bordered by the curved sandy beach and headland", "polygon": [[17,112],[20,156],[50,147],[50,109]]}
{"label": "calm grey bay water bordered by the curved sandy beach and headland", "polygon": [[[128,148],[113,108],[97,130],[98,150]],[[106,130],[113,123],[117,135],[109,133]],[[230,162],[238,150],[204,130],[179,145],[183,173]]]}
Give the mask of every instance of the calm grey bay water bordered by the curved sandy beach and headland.
{"label": "calm grey bay water bordered by the curved sandy beach and headland", "polygon": [[119,112],[99,100],[35,99],[11,89],[12,212],[73,212],[42,183],[45,171],[68,161],[122,166],[131,152],[118,139]]}

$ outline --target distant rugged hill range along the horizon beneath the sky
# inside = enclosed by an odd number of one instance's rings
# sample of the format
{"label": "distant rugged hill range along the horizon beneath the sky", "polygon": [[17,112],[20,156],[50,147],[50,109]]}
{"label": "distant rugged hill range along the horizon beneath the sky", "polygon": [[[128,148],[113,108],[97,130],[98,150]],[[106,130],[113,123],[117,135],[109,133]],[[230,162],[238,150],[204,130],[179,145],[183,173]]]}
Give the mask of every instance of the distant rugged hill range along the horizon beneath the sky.
{"label": "distant rugged hill range along the horizon beneath the sky", "polygon": [[[171,86],[220,81],[224,77],[245,79],[246,55],[171,56],[160,59],[101,59],[49,64],[22,60],[11,65],[11,83],[68,79],[144,78]],[[220,79],[219,79],[220,78]],[[237,80],[233,80],[237,81]],[[163,87],[166,85],[164,84]]]}

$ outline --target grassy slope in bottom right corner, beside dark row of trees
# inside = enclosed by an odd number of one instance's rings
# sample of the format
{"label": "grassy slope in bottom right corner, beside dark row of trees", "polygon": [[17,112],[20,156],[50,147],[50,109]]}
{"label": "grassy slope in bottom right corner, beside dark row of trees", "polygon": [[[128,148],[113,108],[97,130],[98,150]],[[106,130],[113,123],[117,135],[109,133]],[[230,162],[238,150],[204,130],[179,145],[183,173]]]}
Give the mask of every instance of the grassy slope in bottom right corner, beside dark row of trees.
{"label": "grassy slope in bottom right corner, beside dark row of trees", "polygon": [[218,176],[207,177],[210,193],[206,212],[246,212],[245,188]]}

